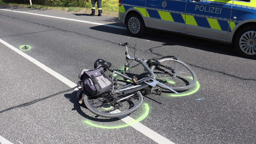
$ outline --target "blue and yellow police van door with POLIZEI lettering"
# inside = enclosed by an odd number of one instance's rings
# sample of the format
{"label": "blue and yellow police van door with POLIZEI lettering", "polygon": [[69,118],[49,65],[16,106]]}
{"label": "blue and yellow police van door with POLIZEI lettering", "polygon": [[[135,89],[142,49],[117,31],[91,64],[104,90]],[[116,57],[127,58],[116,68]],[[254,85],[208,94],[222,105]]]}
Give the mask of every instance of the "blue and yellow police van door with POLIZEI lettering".
{"label": "blue and yellow police van door with POLIZEI lettering", "polygon": [[232,0],[187,0],[186,33],[227,39]]}

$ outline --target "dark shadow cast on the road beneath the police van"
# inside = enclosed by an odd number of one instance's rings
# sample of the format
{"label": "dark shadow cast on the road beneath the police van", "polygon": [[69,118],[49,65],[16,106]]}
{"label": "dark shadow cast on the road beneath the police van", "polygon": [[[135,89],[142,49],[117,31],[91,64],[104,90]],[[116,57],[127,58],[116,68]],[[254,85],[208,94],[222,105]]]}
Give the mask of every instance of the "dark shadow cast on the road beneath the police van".
{"label": "dark shadow cast on the road beneath the police van", "polygon": [[[114,25],[114,23],[109,24],[109,25]],[[123,27],[126,27],[126,26],[123,25]],[[106,26],[94,26],[94,27],[90,27],[90,29],[131,37],[128,34],[127,30],[117,29],[114,27],[106,28]],[[178,46],[190,47],[193,49],[199,49],[199,50],[209,51],[209,52],[218,53],[218,54],[241,57],[240,55],[238,55],[236,53],[234,46],[230,46],[230,45],[226,45],[226,44],[218,43],[218,42],[212,42],[212,41],[208,41],[205,39],[189,37],[189,36],[181,35],[181,34],[167,33],[167,32],[157,31],[157,30],[148,30],[146,32],[146,34],[144,34],[143,36],[138,37],[138,38],[149,40],[149,41],[158,41],[158,42],[163,43],[162,44],[163,46],[178,45]],[[157,47],[155,47],[155,48],[157,48]],[[146,52],[151,53],[152,50],[149,49]],[[159,55],[159,56],[161,57],[162,55]]]}

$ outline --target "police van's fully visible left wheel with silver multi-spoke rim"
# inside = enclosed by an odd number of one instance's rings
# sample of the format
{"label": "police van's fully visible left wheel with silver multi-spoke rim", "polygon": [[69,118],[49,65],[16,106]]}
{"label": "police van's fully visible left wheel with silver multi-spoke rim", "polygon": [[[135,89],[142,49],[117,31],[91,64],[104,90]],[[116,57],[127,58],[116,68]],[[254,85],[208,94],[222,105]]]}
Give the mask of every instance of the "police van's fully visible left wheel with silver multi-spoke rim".
{"label": "police van's fully visible left wheel with silver multi-spoke rim", "polygon": [[145,23],[137,13],[132,13],[127,17],[126,28],[128,33],[134,37],[139,37],[146,32]]}

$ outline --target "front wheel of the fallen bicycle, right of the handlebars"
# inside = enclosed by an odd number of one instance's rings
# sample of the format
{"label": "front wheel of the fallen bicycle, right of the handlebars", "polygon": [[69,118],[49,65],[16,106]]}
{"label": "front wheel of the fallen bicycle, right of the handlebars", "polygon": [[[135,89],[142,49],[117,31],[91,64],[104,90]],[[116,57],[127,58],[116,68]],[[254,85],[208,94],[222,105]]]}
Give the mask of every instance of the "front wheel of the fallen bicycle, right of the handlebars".
{"label": "front wheel of the fallen bicycle, right of the handlebars", "polygon": [[[188,90],[196,84],[197,77],[186,63],[171,57],[159,59],[159,62],[173,68],[175,71],[171,71],[162,66],[151,66],[150,69],[154,72],[157,81],[175,91]],[[158,83],[157,86],[169,90]]]}

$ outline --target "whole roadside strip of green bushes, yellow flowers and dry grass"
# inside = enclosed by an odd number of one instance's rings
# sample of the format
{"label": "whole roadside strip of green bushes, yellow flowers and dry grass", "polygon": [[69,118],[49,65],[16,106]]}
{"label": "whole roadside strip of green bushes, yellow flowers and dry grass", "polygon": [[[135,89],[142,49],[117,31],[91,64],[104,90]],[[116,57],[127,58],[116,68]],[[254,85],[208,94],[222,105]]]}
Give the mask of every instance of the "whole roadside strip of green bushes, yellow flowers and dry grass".
{"label": "whole roadside strip of green bushes, yellow flowers and dry grass", "polygon": [[[91,0],[0,0],[0,5],[91,13]],[[118,0],[102,0],[102,14],[118,16]],[[96,14],[98,13],[96,3]]]}

